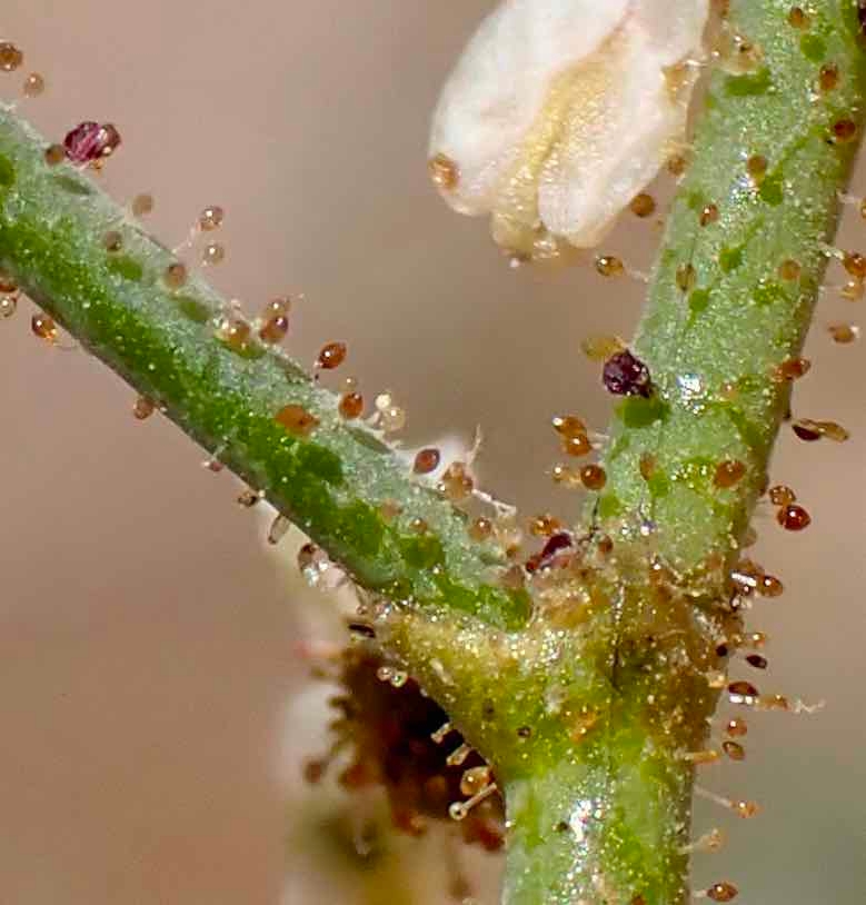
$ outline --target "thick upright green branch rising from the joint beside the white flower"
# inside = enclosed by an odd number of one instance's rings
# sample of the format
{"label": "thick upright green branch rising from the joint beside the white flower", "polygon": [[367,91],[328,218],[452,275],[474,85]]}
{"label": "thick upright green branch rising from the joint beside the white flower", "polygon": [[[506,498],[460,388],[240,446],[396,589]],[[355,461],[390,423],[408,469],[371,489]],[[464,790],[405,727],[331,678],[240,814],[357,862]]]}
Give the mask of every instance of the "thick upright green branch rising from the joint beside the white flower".
{"label": "thick upright green branch rising from the joint beside the white flower", "polygon": [[[651,524],[684,571],[736,549],[765,487],[790,394],[779,367],[803,347],[859,146],[856,0],[804,3],[799,26],[793,6],[730,4],[751,50],[713,74],[635,340],[657,392],[617,408],[606,454],[598,519]],[[746,466],[729,489],[723,461]]]}

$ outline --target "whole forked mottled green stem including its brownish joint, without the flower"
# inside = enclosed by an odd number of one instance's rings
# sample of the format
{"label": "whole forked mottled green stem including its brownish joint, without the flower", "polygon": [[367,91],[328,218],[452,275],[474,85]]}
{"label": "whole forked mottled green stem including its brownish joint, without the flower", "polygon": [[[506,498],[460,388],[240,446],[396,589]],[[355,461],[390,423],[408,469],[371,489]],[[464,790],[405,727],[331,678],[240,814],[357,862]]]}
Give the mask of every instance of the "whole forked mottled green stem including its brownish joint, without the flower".
{"label": "whole forked mottled green stem including its brownish joint, without the flower", "polygon": [[[743,40],[711,77],[635,341],[655,391],[617,408],[580,553],[534,580],[531,619],[462,515],[283,355],[221,341],[226,302],[199,278],[169,289],[172,255],[0,107],[0,268],[376,593],[380,642],[506,789],[508,905],[688,895],[689,755],[739,628],[726,575],[863,122],[856,1],[812,0],[794,24],[790,6],[730,3]],[[287,405],[309,436],[275,420]]]}

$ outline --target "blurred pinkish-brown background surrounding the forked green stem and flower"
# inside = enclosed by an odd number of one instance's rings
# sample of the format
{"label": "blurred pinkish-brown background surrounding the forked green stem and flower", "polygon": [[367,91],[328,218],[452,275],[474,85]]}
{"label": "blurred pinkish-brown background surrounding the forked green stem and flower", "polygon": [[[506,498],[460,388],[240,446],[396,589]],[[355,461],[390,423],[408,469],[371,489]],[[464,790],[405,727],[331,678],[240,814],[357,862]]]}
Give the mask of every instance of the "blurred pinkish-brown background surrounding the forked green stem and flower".
{"label": "blurred pinkish-brown background surrounding the forked green stem and flower", "polygon": [[[491,6],[11,0],[0,27],[47,79],[22,103],[43,132],[119,126],[103,182],[121,199],[152,192],[167,243],[221,205],[213,280],[249,311],[306,295],[295,356],[347,340],[341,376],[369,396],[394,390],[408,444],[469,442],[481,425],[485,486],[568,517],[579,500],[548,477],[549,418],[576,411],[604,429],[608,400],[579,342],[629,336],[644,287],[587,265],[512,270],[486,223],[428,185],[429,112]],[[21,79],[2,76],[2,97]],[[659,232],[624,218],[604,250],[646,270]],[[842,243],[865,239],[852,208]],[[826,326],[862,320],[864,306],[827,290],[795,398],[797,415],[840,421],[852,440],[786,430],[772,469],[813,527],[785,534],[769,510],[756,523],[757,558],[787,587],[751,620],[773,639],[762,687],[827,707],[753,718],[746,763],[705,775],[763,816],[697,808],[697,832],[729,829],[723,854],[696,861],[698,885],[733,879],[746,903],[863,902],[866,357]],[[441,841],[410,845],[402,866],[365,862],[328,828],[339,796],[300,779],[325,745],[328,692],[310,689],[296,645],[331,637],[330,603],[277,566],[230,475],[203,469],[159,416],[136,421],[131,391],[34,339],[30,312],[0,324],[0,901],[445,903]],[[497,871],[470,865],[479,902],[495,901]]]}

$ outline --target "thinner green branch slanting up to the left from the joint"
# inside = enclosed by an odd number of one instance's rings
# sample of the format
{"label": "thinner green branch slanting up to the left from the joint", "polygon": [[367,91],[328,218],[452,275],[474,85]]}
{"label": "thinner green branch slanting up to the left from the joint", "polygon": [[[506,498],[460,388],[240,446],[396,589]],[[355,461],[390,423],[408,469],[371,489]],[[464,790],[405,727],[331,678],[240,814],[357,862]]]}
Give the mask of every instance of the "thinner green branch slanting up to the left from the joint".
{"label": "thinner green branch slanting up to the left from the joint", "polygon": [[[255,334],[242,347],[221,341],[227,300],[199,277],[170,289],[165,275],[177,258],[89,178],[49,166],[47,147],[0,107],[0,268],[359,585],[519,623],[528,598],[492,583],[501,553],[474,541],[461,513],[411,478],[374,431],[341,418],[337,398],[285,354]],[[107,250],[109,231],[122,250]],[[318,419],[309,436],[275,420],[288,405]],[[401,511],[389,517],[392,504]]]}

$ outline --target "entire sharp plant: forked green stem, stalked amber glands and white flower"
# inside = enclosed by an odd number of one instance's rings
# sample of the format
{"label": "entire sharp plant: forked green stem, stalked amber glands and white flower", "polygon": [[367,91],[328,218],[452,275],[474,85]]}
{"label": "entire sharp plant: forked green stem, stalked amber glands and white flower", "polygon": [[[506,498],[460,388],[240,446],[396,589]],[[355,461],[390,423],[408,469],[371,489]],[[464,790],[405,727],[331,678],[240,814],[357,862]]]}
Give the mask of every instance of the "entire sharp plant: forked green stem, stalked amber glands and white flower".
{"label": "entire sharp plant: forked green stem, stalked amber glands and white flower", "polygon": [[[143,414],[159,407],[350,576],[384,677],[410,674],[505,794],[507,903],[685,902],[695,770],[739,756],[739,718],[723,745],[709,739],[719,695],[797,707],[727,667],[745,650],[760,668],[743,603],[780,589],[743,548],[808,367],[863,123],[863,29],[855,0],[731,0],[713,16],[700,2],[511,0],[469,43],[435,117],[431,172],[455,207],[491,215],[518,260],[591,245],[629,201],[649,210],[641,189],[670,155],[683,176],[637,335],[605,350],[619,398],[599,460],[584,464],[577,416],[555,422],[576,463],[557,476],[587,489],[585,515],[534,526],[546,543],[529,559],[500,508],[460,510],[476,493],[468,463],[442,469],[422,450],[407,468],[387,441],[401,420],[390,399],[362,421],[362,400],[335,398],[279,349],[286,304],[247,318],[81,172],[117,148],[110,127],[51,146],[0,108],[7,301],[20,287],[46,311],[40,336],[53,341],[60,321],[137,388]],[[0,66],[17,68],[16,52],[0,47]],[[866,265],[843,260],[862,288]],[[318,367],[341,355],[326,347]],[[769,497],[783,528],[808,525],[788,488]],[[318,567],[317,549],[305,556]],[[491,789],[470,786],[457,819]]]}

